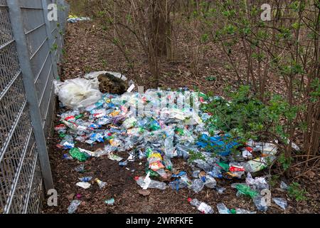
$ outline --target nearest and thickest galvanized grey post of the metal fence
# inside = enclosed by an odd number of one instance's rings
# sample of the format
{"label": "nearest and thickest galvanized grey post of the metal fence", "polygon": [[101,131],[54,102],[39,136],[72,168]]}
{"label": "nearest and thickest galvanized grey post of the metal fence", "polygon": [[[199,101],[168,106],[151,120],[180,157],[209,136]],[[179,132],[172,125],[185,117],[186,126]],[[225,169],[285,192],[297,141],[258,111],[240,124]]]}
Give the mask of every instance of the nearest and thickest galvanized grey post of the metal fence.
{"label": "nearest and thickest galvanized grey post of the metal fence", "polygon": [[51,175],[46,138],[43,133],[41,113],[38,107],[38,98],[36,94],[36,86],[34,84],[34,75],[31,68],[30,56],[28,53],[26,35],[23,31],[21,8],[19,5],[19,0],[9,0],[7,1],[7,4],[9,6],[12,31],[16,40],[18,61],[20,63],[21,72],[23,74],[23,85],[26,89],[26,96],[31,114],[31,122],[36,138],[38,156],[41,163],[41,171],[43,174],[43,182],[45,184],[46,190],[49,190],[53,188],[53,178]]}

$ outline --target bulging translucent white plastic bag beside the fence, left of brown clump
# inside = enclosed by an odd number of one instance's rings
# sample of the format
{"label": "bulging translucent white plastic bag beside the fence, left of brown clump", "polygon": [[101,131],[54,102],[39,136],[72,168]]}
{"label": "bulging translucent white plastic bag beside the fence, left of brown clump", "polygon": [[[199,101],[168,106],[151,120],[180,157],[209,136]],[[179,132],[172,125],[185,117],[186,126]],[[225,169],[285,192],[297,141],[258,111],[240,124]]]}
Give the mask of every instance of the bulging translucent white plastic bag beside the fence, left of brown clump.
{"label": "bulging translucent white plastic bag beside the fence, left of brown clump", "polygon": [[85,78],[75,78],[65,82],[54,81],[54,84],[55,94],[68,108],[84,108],[102,98],[100,90]]}

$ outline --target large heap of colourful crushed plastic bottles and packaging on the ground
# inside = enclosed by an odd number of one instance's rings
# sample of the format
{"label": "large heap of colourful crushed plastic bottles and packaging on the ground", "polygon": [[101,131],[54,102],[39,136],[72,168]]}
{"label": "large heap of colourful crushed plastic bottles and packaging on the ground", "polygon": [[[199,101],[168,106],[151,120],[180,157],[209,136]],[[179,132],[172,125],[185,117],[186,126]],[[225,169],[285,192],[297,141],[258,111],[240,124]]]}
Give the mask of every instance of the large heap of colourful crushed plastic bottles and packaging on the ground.
{"label": "large heap of colourful crushed plastic bottles and packaging on the ground", "polygon": [[[81,78],[81,80],[85,79]],[[65,83],[72,83],[72,80]],[[61,85],[56,90],[58,95],[60,89]],[[135,177],[137,185],[143,190],[148,188],[166,190],[171,187],[176,191],[188,188],[198,193],[206,187],[221,194],[225,188],[219,187],[217,180],[222,178],[245,180],[243,183],[234,183],[231,186],[238,190],[237,196],[248,195],[258,210],[263,212],[267,210],[267,204],[264,204],[262,195],[260,195],[261,190],[269,189],[266,177],[253,178],[251,174],[265,169],[275,160],[277,146],[270,142],[253,140],[242,142],[241,139],[233,138],[230,134],[218,129],[208,129],[206,120],[214,117],[210,113],[204,113],[201,109],[195,112],[193,107],[194,105],[201,107],[201,104],[208,103],[216,97],[209,98],[200,93],[200,99],[193,101],[192,106],[161,107],[157,104],[164,100],[163,95],[161,96],[163,90],[149,89],[145,93],[135,92],[122,95],[105,93],[102,95],[97,91],[91,93],[95,89],[84,89],[89,90],[90,93],[82,91],[89,94],[82,100],[90,100],[92,103],[90,95],[93,94],[95,103],[78,106],[75,103],[70,105],[72,102],[69,102],[68,111],[59,115],[60,124],[55,126],[55,131],[61,138],[57,147],[66,151],[63,155],[64,159],[85,162],[90,157],[105,156],[119,162],[121,166],[126,166],[128,162],[144,160],[146,177]],[[75,91],[79,93],[78,90]],[[170,92],[178,97],[193,91],[188,88],[179,88]],[[170,99],[170,95],[166,98]],[[60,95],[59,99],[60,101],[65,100],[65,98],[60,98]],[[77,102],[82,103],[80,100]],[[144,113],[141,114],[139,110],[133,109],[139,106],[138,103],[153,108],[144,109]],[[63,107],[65,104],[60,105]],[[214,132],[214,134],[210,135],[209,132]],[[103,142],[104,147],[94,151],[85,150],[77,147],[75,142],[82,142],[90,146]],[[174,157],[183,157],[187,160],[193,172],[178,172],[172,163]],[[83,169],[84,167],[78,167],[78,172]],[[82,177],[77,185],[89,188],[92,178]],[[100,187],[105,187],[107,184],[97,179],[95,182]],[[191,204],[198,209],[200,207],[201,212],[213,212],[213,209],[208,208],[207,204],[204,207],[203,203],[193,199],[190,199],[189,202],[192,202]],[[284,199],[277,198],[274,202],[281,204],[283,209],[287,207]],[[75,212],[74,206],[80,205],[79,200],[72,204],[71,212]],[[218,212],[232,214],[224,204],[218,206]],[[245,209],[233,209],[233,213],[252,212]]]}

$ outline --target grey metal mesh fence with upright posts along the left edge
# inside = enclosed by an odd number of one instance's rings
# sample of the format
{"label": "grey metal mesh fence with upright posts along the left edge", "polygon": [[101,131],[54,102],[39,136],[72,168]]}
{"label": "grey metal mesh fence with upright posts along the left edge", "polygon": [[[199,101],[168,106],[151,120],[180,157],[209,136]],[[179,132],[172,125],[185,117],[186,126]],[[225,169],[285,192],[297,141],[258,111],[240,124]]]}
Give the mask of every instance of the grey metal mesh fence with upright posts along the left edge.
{"label": "grey metal mesh fence with upright posts along the left edge", "polygon": [[63,0],[0,0],[0,213],[39,213],[53,188],[46,135],[68,11]]}

